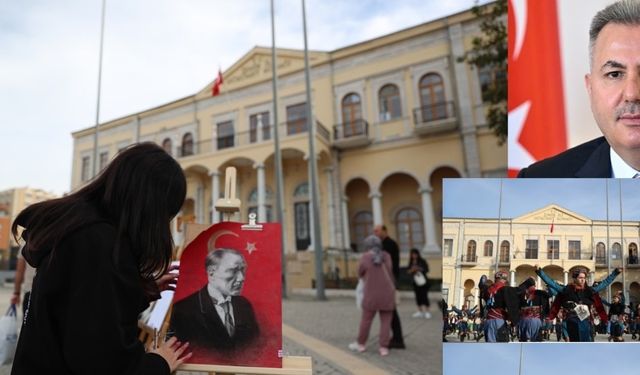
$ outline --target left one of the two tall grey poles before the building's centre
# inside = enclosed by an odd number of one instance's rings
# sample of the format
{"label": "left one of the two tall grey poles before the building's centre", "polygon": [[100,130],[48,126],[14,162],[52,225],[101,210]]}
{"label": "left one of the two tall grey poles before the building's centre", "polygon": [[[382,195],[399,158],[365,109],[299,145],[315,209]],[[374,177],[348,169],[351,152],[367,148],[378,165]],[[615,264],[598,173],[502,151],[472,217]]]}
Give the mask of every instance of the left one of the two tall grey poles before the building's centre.
{"label": "left one of the two tall grey poles before the building's centre", "polygon": [[[287,298],[287,260],[285,255],[285,215],[284,182],[282,178],[282,154],[278,133],[278,75],[276,74],[276,25],[273,0],[271,0],[271,86],[273,88],[273,144],[275,146],[274,164],[276,166],[276,211],[280,222],[280,249],[282,257],[282,298]],[[258,130],[259,131],[259,130]]]}

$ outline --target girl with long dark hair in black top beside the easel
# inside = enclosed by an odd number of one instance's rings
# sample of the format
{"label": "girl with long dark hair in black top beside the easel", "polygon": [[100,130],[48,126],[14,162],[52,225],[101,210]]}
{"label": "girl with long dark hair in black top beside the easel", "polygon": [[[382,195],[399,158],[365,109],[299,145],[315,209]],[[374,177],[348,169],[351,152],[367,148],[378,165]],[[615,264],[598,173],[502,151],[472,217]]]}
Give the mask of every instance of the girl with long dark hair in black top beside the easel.
{"label": "girl with long dark hair in black top beside the easel", "polygon": [[175,338],[145,353],[138,314],[170,289],[170,221],[180,165],[141,143],[79,191],[27,207],[11,228],[36,267],[12,374],[169,374],[190,354]]}

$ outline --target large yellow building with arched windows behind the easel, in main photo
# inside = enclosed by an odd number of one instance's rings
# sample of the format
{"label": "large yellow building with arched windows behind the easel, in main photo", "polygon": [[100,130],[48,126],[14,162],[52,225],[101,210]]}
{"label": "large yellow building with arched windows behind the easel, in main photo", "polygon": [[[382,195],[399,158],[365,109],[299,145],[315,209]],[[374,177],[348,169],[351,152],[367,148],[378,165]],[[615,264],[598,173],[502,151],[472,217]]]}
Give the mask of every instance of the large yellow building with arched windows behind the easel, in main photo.
{"label": "large yellow building with arched windows behind the easel, in main photo", "polygon": [[[356,251],[385,224],[406,266],[411,248],[441,277],[442,179],[506,175],[506,147],[489,129],[483,75],[458,60],[480,22],[470,11],[334,51],[310,51],[319,175],[320,226],[327,273],[354,275]],[[238,218],[275,220],[273,134],[284,167],[285,253],[290,285],[313,278],[312,212],[303,51],[277,50],[278,123],[271,49],[255,47],[200,92],[100,124],[100,155],[138,141],[171,153],[188,179],[181,222],[220,220],[212,202],[224,170],[237,168]],[[94,129],[73,133],[72,186],[89,179]],[[179,228],[176,228],[177,231]],[[337,254],[335,259],[330,254]],[[354,255],[355,254],[355,255]]]}

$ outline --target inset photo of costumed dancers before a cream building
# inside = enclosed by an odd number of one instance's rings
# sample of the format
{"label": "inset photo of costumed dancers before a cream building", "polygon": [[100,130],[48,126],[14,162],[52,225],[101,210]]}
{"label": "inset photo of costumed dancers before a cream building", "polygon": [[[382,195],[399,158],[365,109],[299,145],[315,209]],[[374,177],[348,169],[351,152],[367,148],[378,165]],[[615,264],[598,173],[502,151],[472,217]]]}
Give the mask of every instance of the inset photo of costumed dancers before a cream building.
{"label": "inset photo of costumed dancers before a cream building", "polygon": [[443,341],[639,340],[639,189],[445,179]]}

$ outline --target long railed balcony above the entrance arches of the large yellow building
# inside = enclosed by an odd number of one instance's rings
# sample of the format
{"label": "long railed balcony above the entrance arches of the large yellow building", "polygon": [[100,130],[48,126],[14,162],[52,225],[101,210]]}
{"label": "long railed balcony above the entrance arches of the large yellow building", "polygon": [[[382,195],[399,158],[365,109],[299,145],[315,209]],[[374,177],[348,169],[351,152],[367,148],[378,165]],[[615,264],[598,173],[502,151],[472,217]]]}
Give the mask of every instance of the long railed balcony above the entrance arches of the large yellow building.
{"label": "long railed balcony above the entrance arches of the large yellow building", "polygon": [[[316,121],[316,137],[329,145],[331,142],[331,134],[329,130]],[[298,140],[301,135],[307,134],[306,122],[290,122],[278,125],[278,135],[280,145],[285,146],[293,140]],[[263,126],[261,129],[253,129],[244,132],[235,132],[232,134],[221,134],[216,138],[204,139],[191,144],[178,146],[174,157],[176,159],[186,158],[190,156],[199,156],[217,152],[233,152],[233,150],[246,151],[247,147],[269,146],[273,147],[273,127]],[[305,137],[306,138],[306,137]],[[304,144],[304,143],[303,143]],[[308,146],[307,146],[308,147]]]}

